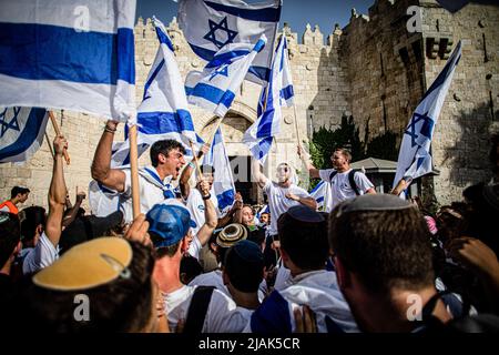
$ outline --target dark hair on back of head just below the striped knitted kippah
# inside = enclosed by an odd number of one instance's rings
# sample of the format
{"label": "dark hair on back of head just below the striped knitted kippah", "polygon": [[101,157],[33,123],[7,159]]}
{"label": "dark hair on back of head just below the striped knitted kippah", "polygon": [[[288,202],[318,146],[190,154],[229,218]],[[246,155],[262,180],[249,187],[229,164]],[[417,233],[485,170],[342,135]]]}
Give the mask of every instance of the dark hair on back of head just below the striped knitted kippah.
{"label": "dark hair on back of head just below the striped knitted kippah", "polygon": [[[247,241],[247,243],[253,242]],[[257,292],[264,277],[263,255],[258,261],[247,261],[237,255],[234,246],[230,247],[225,255],[225,274],[236,290],[241,292]]]}

